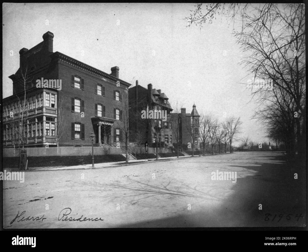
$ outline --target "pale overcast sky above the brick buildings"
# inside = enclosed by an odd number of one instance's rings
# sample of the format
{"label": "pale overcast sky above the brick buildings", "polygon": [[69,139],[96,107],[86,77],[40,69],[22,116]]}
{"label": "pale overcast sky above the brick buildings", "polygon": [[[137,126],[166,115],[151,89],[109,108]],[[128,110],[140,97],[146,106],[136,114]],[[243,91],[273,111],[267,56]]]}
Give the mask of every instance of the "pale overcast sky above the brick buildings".
{"label": "pale overcast sky above the brick buildings", "polygon": [[232,25],[219,18],[201,30],[188,28],[185,17],[193,9],[190,3],[3,4],[3,98],[12,95],[8,76],[18,70],[19,50],[32,48],[51,31],[54,52],[107,73],[119,66],[120,79],[144,87],[152,83],[172,107],[178,102],[188,113],[195,103],[199,114],[221,122],[240,116],[239,137],[268,142],[264,127],[251,119],[256,104],[249,103],[251,90],[241,84],[249,77],[239,65],[243,54]]}

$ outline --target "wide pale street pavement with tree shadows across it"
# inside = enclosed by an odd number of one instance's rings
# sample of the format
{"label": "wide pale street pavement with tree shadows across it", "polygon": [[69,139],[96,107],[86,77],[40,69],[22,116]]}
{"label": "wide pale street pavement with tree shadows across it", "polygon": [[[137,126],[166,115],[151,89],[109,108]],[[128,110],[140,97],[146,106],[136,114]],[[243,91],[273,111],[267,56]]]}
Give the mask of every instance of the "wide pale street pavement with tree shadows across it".
{"label": "wide pale street pavement with tree shadows across it", "polygon": [[[217,170],[236,182],[213,180]],[[305,178],[280,152],[26,171],[23,183],[3,181],[3,227],[304,226]]]}

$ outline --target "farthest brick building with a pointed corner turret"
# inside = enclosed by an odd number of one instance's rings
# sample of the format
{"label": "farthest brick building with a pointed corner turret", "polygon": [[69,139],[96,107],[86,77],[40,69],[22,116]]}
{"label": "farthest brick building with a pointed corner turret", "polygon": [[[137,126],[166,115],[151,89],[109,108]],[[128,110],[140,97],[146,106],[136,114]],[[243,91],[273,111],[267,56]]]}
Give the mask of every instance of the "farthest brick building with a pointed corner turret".
{"label": "farthest brick building with a pointed corner turret", "polygon": [[[198,111],[196,109],[196,105],[193,105],[192,112],[186,113],[186,108],[181,108],[181,113],[171,114],[171,125],[172,131],[176,132],[176,125],[178,120],[178,135],[179,135],[179,146],[181,150],[188,150],[188,143],[191,143],[191,146],[194,150],[199,150],[200,148],[200,139],[198,136],[199,130],[199,117]],[[176,146],[176,142],[174,143]]]}

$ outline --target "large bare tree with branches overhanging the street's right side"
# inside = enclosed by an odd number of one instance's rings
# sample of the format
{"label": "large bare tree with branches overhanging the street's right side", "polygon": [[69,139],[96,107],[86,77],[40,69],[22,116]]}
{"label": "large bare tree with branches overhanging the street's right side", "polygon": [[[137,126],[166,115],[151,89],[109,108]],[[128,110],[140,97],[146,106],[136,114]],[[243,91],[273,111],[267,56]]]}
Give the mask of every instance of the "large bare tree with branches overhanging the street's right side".
{"label": "large bare tree with branches overhanging the street's right side", "polygon": [[[215,14],[225,15],[233,22],[240,19],[241,26],[239,30],[234,30],[233,35],[243,52],[250,54],[242,63],[254,78],[269,79],[274,87],[269,89],[262,85],[253,92],[253,97],[257,95],[256,102],[265,106],[265,108],[259,106],[255,116],[268,121],[267,126],[270,131],[276,126],[274,121],[278,121],[276,118],[272,120],[270,110],[279,109],[279,114],[289,120],[286,122],[287,126],[278,125],[287,152],[294,153],[297,148],[298,153],[304,156],[306,153],[305,5],[218,3],[207,5],[205,14],[201,10],[203,7],[202,4],[196,5],[189,16],[188,26],[196,23],[201,28],[203,23],[211,23],[213,18],[216,18]],[[291,104],[291,100],[294,104]],[[267,113],[264,110],[267,110]]]}

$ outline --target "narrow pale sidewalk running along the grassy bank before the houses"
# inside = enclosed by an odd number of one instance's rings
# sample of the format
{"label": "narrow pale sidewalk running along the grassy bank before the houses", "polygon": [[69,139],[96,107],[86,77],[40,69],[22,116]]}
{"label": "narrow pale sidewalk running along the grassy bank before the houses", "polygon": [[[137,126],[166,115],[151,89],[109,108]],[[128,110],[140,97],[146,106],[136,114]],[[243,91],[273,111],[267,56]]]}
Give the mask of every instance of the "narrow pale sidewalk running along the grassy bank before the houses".
{"label": "narrow pale sidewalk running along the grassy bank before the houses", "polygon": [[[188,158],[192,156],[182,156],[179,158]],[[199,157],[199,156],[195,156]],[[159,158],[158,161],[167,161],[177,159],[177,157],[168,157],[168,158]],[[94,160],[95,161],[95,160]],[[156,158],[151,159],[138,159],[138,160],[129,160],[128,164],[125,163],[125,161],[119,161],[119,162],[107,162],[107,163],[99,163],[94,164],[94,169],[99,168],[107,168],[107,167],[119,167],[119,166],[128,166],[128,165],[135,165],[140,163],[146,163],[146,162],[157,162]],[[33,167],[30,168],[28,171],[47,171],[47,170],[87,170],[92,169],[92,164],[89,165],[77,165],[77,166],[45,166],[45,167]]]}

